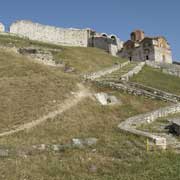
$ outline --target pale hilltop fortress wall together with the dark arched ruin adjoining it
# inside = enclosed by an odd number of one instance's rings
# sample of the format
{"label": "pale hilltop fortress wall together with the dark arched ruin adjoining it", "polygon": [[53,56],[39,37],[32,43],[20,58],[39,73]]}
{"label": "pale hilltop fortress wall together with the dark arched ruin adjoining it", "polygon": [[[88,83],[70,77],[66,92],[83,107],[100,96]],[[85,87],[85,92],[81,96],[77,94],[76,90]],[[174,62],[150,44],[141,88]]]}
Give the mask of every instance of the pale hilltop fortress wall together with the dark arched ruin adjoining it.
{"label": "pale hilltop fortress wall together with the dark arched ruin adjoining it", "polygon": [[97,47],[114,56],[123,45],[117,36],[97,33],[92,29],[57,28],[25,20],[13,23],[10,33],[64,46]]}

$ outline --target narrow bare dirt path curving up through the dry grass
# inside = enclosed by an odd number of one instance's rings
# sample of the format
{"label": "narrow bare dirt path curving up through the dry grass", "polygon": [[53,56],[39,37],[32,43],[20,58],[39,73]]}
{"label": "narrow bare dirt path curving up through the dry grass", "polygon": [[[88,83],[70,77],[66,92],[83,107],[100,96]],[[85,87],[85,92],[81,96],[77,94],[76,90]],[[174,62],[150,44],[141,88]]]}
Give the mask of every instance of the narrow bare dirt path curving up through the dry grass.
{"label": "narrow bare dirt path curving up through the dry grass", "polygon": [[32,122],[20,125],[19,127],[15,128],[15,129],[0,133],[0,137],[12,135],[19,131],[31,129],[31,128],[47,121],[48,119],[55,118],[57,115],[65,112],[68,109],[70,109],[71,107],[77,105],[82,99],[84,99],[88,96],[91,96],[91,93],[83,85],[78,84],[78,87],[79,87],[79,91],[74,93],[74,95],[72,97],[65,100],[62,104],[58,105],[57,110],[52,111],[52,112],[48,113],[47,115],[44,115],[44,116],[40,117],[39,119],[36,119]]}

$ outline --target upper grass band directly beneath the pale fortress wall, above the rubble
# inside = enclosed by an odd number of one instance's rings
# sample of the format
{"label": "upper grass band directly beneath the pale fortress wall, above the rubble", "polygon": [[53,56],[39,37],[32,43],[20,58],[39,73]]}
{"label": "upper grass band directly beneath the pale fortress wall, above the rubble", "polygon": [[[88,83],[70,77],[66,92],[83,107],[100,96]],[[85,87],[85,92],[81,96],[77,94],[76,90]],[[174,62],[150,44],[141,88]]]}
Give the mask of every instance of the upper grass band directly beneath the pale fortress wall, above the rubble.
{"label": "upper grass band directly beneath the pale fortress wall, above the rubble", "polygon": [[[10,47],[34,46],[50,49],[57,63],[63,62],[67,66],[74,67],[78,74],[98,71],[102,68],[110,67],[115,63],[125,61],[96,48],[62,47],[8,35],[0,35],[0,42],[2,45]],[[53,49],[59,50],[59,52],[53,51]]]}

